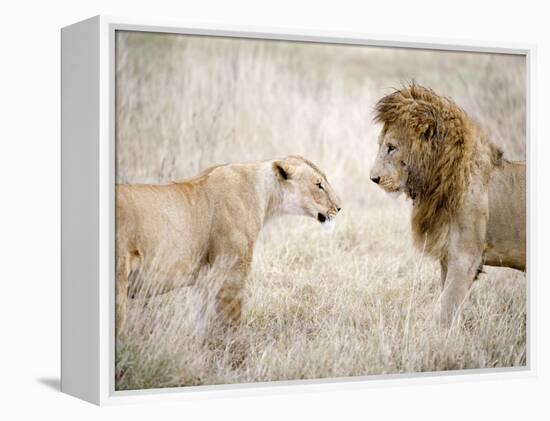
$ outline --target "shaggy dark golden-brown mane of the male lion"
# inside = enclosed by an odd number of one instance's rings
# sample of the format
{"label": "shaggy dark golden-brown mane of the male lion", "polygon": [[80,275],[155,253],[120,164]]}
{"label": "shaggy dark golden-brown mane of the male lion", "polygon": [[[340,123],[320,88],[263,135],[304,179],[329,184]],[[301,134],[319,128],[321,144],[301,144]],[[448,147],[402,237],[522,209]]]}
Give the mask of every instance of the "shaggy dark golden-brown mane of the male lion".
{"label": "shaggy dark golden-brown mane of the male lion", "polygon": [[414,204],[415,242],[440,258],[470,180],[483,177],[486,184],[502,152],[451,99],[414,83],[380,99],[375,120],[384,125],[383,134],[398,133],[408,149],[406,187]]}

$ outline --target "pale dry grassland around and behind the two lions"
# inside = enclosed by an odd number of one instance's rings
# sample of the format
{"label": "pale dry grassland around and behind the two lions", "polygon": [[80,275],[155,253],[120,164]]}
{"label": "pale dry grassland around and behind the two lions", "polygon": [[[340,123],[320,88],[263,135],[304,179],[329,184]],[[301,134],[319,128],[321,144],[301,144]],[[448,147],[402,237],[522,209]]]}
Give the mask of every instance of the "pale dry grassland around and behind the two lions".
{"label": "pale dry grassland around and behind the two lions", "polygon": [[300,217],[265,227],[242,365],[197,339],[200,300],[182,289],[132,303],[117,389],[526,364],[525,275],[487,268],[459,323],[438,331],[439,266],[412,247],[411,204],[368,178],[374,104],[411,80],[453,98],[506,158],[525,159],[523,56],[117,32],[116,60],[117,182],[301,154],[344,208],[330,235]]}

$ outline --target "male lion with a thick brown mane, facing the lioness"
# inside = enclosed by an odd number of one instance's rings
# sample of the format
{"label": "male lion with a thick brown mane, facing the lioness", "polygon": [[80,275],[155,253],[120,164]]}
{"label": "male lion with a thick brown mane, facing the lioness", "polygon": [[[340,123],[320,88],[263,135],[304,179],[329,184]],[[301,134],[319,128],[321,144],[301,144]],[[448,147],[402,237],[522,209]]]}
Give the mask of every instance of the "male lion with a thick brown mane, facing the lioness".
{"label": "male lion with a thick brown mane, facing the lioness", "polygon": [[453,101],[411,84],[380,99],[371,180],[412,199],[415,243],[439,259],[448,325],[483,265],[525,270],[525,162],[502,158]]}

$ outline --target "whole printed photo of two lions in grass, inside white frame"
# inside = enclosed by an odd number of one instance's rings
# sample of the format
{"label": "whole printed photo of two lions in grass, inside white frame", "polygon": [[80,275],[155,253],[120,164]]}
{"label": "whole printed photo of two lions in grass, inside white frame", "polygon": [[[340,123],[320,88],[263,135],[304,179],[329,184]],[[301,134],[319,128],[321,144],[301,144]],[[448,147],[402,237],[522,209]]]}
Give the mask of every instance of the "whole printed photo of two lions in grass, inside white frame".
{"label": "whole printed photo of two lions in grass, inside white frame", "polygon": [[527,365],[525,56],[115,47],[116,390]]}

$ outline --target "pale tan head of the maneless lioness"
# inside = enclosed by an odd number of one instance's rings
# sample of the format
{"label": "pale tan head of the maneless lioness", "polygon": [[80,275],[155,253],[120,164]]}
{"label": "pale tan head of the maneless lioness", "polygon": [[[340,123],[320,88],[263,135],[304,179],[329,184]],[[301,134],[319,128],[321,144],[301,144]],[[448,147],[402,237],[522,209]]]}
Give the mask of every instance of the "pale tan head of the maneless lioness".
{"label": "pale tan head of the maneless lioness", "polygon": [[311,216],[325,223],[340,211],[340,199],[315,164],[301,156],[289,156],[274,161],[273,171],[281,186],[283,212]]}

